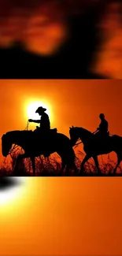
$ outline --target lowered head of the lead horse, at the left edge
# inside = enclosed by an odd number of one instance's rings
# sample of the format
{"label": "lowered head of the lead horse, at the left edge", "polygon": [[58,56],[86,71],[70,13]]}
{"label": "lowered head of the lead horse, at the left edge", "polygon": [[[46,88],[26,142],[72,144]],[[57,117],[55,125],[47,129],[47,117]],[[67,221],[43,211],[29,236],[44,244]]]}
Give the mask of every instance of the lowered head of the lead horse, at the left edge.
{"label": "lowered head of the lead horse, at the left edge", "polygon": [[9,150],[12,147],[12,143],[9,139],[8,133],[2,135],[2,155],[6,157],[9,154]]}

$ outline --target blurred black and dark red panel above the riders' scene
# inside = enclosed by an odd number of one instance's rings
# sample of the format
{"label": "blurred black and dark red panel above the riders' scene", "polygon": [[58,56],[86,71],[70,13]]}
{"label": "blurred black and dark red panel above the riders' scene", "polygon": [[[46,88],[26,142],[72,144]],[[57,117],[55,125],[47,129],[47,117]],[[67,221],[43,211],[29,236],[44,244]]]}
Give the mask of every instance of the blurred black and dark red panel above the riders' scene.
{"label": "blurred black and dark red panel above the riders' scene", "polygon": [[121,43],[120,1],[0,0],[0,7],[2,79],[121,79],[120,59],[111,67],[105,45],[110,32],[112,47],[116,33]]}

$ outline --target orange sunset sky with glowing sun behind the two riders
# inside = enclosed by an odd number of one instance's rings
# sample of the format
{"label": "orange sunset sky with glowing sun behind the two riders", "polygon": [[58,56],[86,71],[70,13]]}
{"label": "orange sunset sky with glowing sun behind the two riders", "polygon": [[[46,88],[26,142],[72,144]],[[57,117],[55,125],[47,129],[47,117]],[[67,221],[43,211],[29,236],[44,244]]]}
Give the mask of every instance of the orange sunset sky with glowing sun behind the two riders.
{"label": "orange sunset sky with glowing sun behind the two riders", "polygon": [[[122,135],[121,80],[0,80],[0,87],[1,136],[26,128],[38,107],[28,112],[34,102],[47,106],[51,128],[65,135],[69,136],[72,125],[94,132],[100,123],[99,113],[105,113],[110,134]],[[38,118],[37,114],[34,119]],[[35,126],[29,123],[28,129],[34,130]]]}

